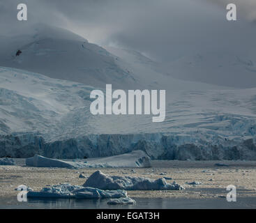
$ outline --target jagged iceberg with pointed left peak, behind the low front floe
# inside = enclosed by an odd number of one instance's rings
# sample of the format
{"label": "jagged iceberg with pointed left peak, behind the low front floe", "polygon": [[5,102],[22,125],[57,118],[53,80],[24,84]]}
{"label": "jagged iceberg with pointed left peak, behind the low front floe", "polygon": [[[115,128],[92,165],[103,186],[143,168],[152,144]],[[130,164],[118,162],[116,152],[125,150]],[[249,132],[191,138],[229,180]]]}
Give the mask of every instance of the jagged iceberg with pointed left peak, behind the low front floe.
{"label": "jagged iceberg with pointed left peak, behind the low front floe", "polygon": [[167,183],[165,178],[153,180],[150,178],[131,176],[108,176],[96,171],[86,180],[84,187],[97,187],[102,190],[183,190],[177,183]]}

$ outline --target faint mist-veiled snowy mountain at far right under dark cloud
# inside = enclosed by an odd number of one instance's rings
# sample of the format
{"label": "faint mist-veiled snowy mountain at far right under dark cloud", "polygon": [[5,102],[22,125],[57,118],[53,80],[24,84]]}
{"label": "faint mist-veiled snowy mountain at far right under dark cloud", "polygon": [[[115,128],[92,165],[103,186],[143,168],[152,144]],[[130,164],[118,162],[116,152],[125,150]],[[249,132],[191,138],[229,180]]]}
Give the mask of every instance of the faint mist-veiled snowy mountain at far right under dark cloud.
{"label": "faint mist-veiled snowy mountain at far right under dark cloud", "polygon": [[237,88],[256,86],[255,54],[234,52],[200,52],[168,63],[172,77]]}

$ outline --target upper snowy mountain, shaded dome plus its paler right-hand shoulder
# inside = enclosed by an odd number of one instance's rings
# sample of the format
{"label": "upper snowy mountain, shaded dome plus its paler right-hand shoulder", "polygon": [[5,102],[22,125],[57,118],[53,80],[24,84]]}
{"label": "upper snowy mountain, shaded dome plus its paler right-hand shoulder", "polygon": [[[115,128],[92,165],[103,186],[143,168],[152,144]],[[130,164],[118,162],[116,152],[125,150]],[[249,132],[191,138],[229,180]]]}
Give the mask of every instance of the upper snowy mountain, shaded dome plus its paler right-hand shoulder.
{"label": "upper snowy mountain, shaded dome plus its paler right-hand shoulder", "polygon": [[0,66],[101,88],[105,84],[114,89],[220,88],[168,77],[158,63],[138,52],[103,48],[66,29],[40,24],[19,33],[0,36]]}

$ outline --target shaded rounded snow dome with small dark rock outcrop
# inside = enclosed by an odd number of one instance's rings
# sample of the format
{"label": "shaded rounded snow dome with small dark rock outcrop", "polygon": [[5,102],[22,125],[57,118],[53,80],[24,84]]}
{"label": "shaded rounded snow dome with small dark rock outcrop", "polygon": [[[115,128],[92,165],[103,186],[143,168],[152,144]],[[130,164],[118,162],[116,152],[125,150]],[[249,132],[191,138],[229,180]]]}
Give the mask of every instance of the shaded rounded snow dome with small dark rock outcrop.
{"label": "shaded rounded snow dome with small dark rock outcrop", "polygon": [[[114,55],[65,29],[36,25],[26,34],[0,36],[0,47],[0,66],[96,87],[137,86],[133,74],[121,68]],[[22,54],[15,56],[18,49]]]}

